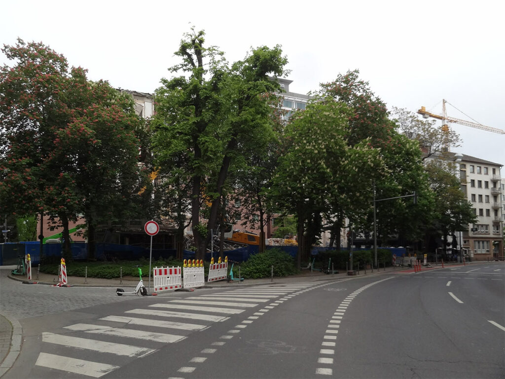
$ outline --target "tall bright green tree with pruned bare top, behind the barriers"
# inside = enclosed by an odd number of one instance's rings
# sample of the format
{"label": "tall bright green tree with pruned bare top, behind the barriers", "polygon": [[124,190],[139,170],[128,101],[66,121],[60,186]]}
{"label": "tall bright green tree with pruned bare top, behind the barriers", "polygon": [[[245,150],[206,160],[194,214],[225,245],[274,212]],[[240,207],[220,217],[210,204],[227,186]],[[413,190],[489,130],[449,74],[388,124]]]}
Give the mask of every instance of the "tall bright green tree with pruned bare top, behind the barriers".
{"label": "tall bright green tree with pruned bare top, behind the barriers", "polygon": [[[268,98],[278,84],[268,75],[281,75],[286,63],[279,46],[263,46],[229,68],[223,53],[204,47],[204,37],[204,31],[194,29],[184,35],[175,53],[182,63],[170,69],[183,75],[162,80],[153,123],[163,134],[163,144],[157,145],[163,148],[156,153],[187,158],[198,259],[204,258],[216,227],[232,163],[237,168],[240,157],[262,146],[272,132]],[[211,203],[207,222],[201,217],[203,196]]]}

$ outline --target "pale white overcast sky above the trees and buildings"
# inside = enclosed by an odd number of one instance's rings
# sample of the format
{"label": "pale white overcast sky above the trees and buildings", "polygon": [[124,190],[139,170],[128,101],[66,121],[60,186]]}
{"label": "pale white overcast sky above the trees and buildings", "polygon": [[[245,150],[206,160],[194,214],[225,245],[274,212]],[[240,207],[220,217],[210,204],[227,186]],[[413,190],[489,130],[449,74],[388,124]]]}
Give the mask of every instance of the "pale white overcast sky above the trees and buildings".
{"label": "pale white overcast sky above the trees and buildings", "polygon": [[[505,129],[504,11],[505,2],[482,0],[16,0],[2,4],[0,44],[42,41],[92,80],[154,92],[194,25],[229,62],[282,45],[293,92],[358,69],[389,109],[441,114],[445,99],[457,108],[449,116]],[[451,125],[463,138],[457,151],[505,165],[505,134]]]}

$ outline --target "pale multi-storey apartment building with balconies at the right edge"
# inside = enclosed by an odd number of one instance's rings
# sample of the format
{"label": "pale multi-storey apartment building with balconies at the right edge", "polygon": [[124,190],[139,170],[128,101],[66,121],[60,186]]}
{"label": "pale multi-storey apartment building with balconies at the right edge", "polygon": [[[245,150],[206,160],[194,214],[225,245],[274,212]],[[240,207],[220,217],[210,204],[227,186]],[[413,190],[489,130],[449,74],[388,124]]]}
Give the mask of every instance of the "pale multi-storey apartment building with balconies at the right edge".
{"label": "pale multi-storey apartment building with balconies at the right edge", "polygon": [[477,222],[460,236],[463,251],[472,260],[503,256],[504,187],[499,163],[468,155],[455,155],[461,189],[466,194]]}

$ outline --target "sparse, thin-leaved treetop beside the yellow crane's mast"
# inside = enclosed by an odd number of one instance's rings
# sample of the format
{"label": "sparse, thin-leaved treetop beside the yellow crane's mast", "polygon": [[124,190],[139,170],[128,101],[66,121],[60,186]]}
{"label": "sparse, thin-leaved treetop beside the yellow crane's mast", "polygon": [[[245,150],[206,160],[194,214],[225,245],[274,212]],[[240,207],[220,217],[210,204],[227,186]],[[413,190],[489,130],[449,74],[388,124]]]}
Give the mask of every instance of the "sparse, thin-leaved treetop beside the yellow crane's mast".
{"label": "sparse, thin-leaved treetop beside the yellow crane's mast", "polygon": [[460,135],[450,129],[444,131],[440,127],[435,127],[435,120],[422,120],[417,114],[396,107],[391,108],[391,118],[398,132],[419,142],[423,151],[423,161],[434,155],[446,156],[449,153],[446,150],[447,146],[460,146]]}

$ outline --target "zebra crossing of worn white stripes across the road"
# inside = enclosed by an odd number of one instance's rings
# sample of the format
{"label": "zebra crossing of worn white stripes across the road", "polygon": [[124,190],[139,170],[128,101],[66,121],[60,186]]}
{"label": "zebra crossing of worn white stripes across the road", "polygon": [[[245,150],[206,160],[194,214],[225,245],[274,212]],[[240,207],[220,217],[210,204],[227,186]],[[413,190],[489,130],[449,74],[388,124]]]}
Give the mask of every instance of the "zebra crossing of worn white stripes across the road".
{"label": "zebra crossing of worn white stripes across the road", "polygon": [[[35,376],[56,376],[56,371],[89,377],[108,374],[131,359],[158,351],[282,296],[294,296],[313,284],[258,286],[220,293],[194,295],[134,308],[98,318],[95,323],[64,326],[68,333],[42,333],[42,348]],[[290,295],[294,293],[293,295]]]}

